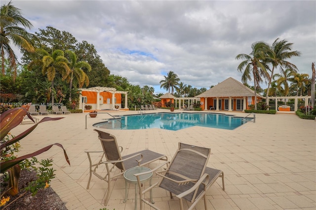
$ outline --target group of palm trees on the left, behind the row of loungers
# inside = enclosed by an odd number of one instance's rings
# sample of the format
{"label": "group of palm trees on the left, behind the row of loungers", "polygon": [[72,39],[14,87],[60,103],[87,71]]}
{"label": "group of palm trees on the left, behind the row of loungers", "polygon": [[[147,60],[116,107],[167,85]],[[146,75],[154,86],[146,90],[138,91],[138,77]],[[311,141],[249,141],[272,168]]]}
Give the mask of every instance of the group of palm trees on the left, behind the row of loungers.
{"label": "group of palm trees on the left, behind the row of loungers", "polygon": [[[31,28],[32,24],[22,17],[20,9],[12,5],[11,1],[8,4],[4,4],[0,9],[1,22],[0,22],[0,47],[1,47],[1,68],[2,75],[11,73],[14,71],[13,82],[17,76],[17,57],[12,49],[12,44],[18,46],[21,50],[29,53],[31,58],[28,64],[28,70],[36,71],[41,70],[42,74],[46,77],[45,81],[38,81],[38,84],[33,84],[30,91],[36,92],[36,95],[45,95],[45,102],[51,101],[54,103],[54,97],[56,93],[59,96],[62,94],[61,88],[55,90],[54,81],[59,79],[66,81],[69,84],[69,101],[72,101],[72,92],[75,87],[82,87],[83,85],[89,85],[89,78],[86,72],[91,70],[91,66],[84,61],[78,61],[77,55],[71,50],[56,49],[49,54],[43,47],[34,47],[34,42],[39,42],[36,35],[30,34],[25,28]],[[24,28],[22,28],[23,26]],[[8,64],[8,65],[7,65]],[[8,67],[7,67],[8,66]],[[8,72],[6,72],[8,71]],[[64,82],[62,82],[64,85]],[[44,93],[40,94],[40,91],[36,86],[42,86]],[[50,86],[50,87],[47,87]],[[59,91],[59,92],[58,92]],[[30,96],[28,92],[26,96]],[[37,98],[36,100],[39,100]]]}

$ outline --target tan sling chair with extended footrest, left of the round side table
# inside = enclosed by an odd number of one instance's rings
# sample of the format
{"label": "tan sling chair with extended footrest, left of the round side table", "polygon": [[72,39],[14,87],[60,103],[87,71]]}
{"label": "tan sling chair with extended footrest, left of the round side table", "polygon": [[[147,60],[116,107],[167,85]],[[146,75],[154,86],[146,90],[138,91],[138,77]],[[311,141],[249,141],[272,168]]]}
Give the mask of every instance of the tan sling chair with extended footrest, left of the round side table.
{"label": "tan sling chair with extended footrest, left of the round side table", "polygon": [[[152,162],[163,160],[164,162],[168,161],[168,158],[166,155],[159,154],[157,152],[151,151],[149,149],[145,149],[139,152],[135,152],[129,155],[121,156],[121,152],[123,150],[123,147],[118,146],[117,139],[115,136],[105,133],[103,131],[99,131],[94,129],[99,135],[99,140],[101,141],[103,151],[85,151],[88,155],[90,167],[89,167],[89,180],[87,189],[89,189],[90,181],[91,181],[91,175],[94,174],[98,178],[108,182],[108,190],[106,193],[105,198],[105,205],[108,204],[110,194],[111,194],[111,180],[118,177],[119,175],[123,175],[124,172],[130,168],[136,167],[136,166],[145,166],[147,164],[150,164]],[[102,152],[101,159],[96,162],[92,163],[91,155],[90,153],[95,152]],[[105,157],[106,160],[103,160]],[[102,170],[101,165],[105,166],[106,170]],[[112,170],[117,167],[120,170],[120,173],[111,173]],[[97,169],[101,168],[98,170]],[[103,175],[100,173],[103,172]],[[113,175],[113,176],[112,176]]]}

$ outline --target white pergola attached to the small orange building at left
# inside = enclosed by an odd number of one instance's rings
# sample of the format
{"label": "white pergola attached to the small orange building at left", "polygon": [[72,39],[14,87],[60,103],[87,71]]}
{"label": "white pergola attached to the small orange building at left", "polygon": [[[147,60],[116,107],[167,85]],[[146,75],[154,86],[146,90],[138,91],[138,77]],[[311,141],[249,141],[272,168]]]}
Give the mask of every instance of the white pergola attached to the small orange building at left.
{"label": "white pergola attached to the small orange building at left", "polygon": [[[112,93],[112,107],[115,106],[115,94],[124,94],[125,95],[125,104],[124,106],[127,107],[127,91],[117,91],[116,88],[111,88],[111,87],[90,87],[90,88],[80,88],[79,90],[81,91],[89,91],[89,92],[96,92],[97,93],[97,100],[96,100],[96,109],[100,109],[100,103],[99,103],[99,98],[100,98],[100,93],[101,92],[109,92]],[[80,100],[79,100],[79,107],[84,107],[84,103],[82,105],[82,95],[80,95]]]}

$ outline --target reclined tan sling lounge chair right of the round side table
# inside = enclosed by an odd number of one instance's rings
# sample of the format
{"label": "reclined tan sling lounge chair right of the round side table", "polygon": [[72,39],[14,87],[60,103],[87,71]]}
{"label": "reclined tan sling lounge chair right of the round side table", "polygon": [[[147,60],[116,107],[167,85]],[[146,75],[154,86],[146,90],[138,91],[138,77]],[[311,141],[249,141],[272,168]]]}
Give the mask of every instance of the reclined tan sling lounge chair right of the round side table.
{"label": "reclined tan sling lounge chair right of the round side table", "polygon": [[[172,198],[172,194],[176,195],[179,199],[181,210],[184,209],[183,200],[193,203],[189,208],[189,210],[191,210],[203,197],[204,207],[205,210],[207,210],[206,191],[218,177],[222,177],[223,190],[225,190],[224,173],[220,170],[206,167],[210,151],[209,148],[179,143],[179,147],[167,169],[156,173],[160,176],[158,182],[145,190],[141,188],[141,183],[138,183],[139,189],[141,189],[139,191],[140,209],[143,209],[142,202],[150,205],[154,209],[158,209],[143,196],[151,188],[158,186],[169,191],[170,198]],[[148,173],[153,173],[162,166],[163,164]],[[135,174],[135,176],[138,177],[144,174],[147,173]]]}

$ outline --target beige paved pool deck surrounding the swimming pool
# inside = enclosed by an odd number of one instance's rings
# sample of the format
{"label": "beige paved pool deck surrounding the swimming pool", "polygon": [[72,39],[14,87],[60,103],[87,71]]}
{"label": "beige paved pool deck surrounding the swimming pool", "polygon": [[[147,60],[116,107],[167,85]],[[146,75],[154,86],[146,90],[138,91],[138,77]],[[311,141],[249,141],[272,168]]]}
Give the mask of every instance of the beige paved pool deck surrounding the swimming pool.
{"label": "beige paved pool deck surrounding the swimming pool", "polygon": [[[146,113],[158,111],[168,110],[158,109]],[[175,112],[177,111],[180,110]],[[111,112],[113,115],[133,113],[137,111]],[[235,114],[241,117],[247,115],[243,112],[215,113]],[[113,182],[114,187],[107,206],[104,206],[104,196],[108,190],[105,181],[92,176],[90,188],[86,189],[89,161],[84,151],[101,150],[100,140],[92,125],[109,118],[106,115],[98,114],[96,118],[87,116],[87,129],[84,129],[86,113],[49,115],[65,118],[40,123],[29,136],[20,141],[22,149],[19,156],[56,142],[64,146],[71,166],[67,164],[62,149],[57,146],[53,146],[37,158],[53,159],[56,177],[52,180],[51,187],[66,203],[68,210],[134,208],[135,186],[132,184],[129,185],[128,200],[123,203],[123,176]],[[45,116],[36,117],[41,119]],[[20,124],[11,131],[11,134],[20,134],[32,125],[34,124]],[[207,166],[224,172],[225,191],[221,189],[222,183],[219,178],[207,192],[208,209],[316,209],[314,120],[303,120],[295,114],[256,114],[256,123],[250,121],[235,130],[197,126],[179,131],[100,130],[116,136],[118,145],[123,147],[123,155],[148,148],[171,159],[179,141],[211,148]],[[151,164],[149,168],[156,165]],[[149,198],[149,195],[146,197]],[[170,199],[165,190],[154,188],[153,198],[155,205],[162,210],[179,209],[178,199]],[[189,206],[190,203],[186,203],[185,208]],[[149,209],[151,208],[145,205],[145,210]],[[202,201],[197,204],[196,209],[204,209]]]}

